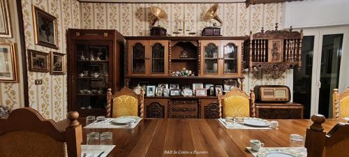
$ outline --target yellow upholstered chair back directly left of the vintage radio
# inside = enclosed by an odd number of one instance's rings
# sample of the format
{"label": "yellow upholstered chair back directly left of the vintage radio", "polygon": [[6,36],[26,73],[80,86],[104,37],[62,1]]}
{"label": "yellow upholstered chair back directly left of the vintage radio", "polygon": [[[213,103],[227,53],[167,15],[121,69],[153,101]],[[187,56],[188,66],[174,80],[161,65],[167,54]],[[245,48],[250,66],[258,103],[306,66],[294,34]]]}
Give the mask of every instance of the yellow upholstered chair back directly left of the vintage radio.
{"label": "yellow upholstered chair back directly left of the vintage radio", "polygon": [[[223,109],[222,109],[223,108]],[[222,94],[218,89],[219,117],[255,117],[255,93],[251,89],[250,95],[240,89],[232,89]]]}

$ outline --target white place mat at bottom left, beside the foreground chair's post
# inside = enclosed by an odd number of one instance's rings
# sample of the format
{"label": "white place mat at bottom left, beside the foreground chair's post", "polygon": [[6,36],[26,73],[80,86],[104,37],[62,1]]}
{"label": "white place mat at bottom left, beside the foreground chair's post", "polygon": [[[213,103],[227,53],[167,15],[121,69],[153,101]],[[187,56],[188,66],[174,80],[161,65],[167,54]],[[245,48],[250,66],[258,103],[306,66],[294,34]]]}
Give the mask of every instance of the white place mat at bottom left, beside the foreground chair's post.
{"label": "white place mat at bottom left, beside the foreground chair's post", "polygon": [[97,157],[104,151],[100,157],[106,157],[114,147],[115,145],[81,145],[81,156],[86,154],[85,157]]}

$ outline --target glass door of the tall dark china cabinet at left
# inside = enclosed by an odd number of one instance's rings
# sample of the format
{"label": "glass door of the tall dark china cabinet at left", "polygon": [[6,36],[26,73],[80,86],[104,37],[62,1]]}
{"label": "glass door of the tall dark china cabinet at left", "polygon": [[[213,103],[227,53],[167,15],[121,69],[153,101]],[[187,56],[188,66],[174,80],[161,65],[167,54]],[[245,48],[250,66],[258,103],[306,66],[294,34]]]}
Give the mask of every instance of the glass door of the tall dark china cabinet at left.
{"label": "glass door of the tall dark china cabinet at left", "polygon": [[82,110],[105,109],[109,46],[76,45],[76,53],[76,104]]}

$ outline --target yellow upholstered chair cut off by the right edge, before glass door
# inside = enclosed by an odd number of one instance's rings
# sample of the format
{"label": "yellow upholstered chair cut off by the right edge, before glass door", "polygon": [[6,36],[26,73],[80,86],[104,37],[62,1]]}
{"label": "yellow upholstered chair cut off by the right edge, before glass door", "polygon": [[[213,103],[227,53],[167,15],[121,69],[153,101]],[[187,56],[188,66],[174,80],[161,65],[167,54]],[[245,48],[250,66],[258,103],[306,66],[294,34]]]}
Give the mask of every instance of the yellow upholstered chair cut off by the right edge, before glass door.
{"label": "yellow upholstered chair cut off by the right edge, before glass door", "polygon": [[342,94],[333,89],[332,100],[333,118],[349,117],[349,87]]}

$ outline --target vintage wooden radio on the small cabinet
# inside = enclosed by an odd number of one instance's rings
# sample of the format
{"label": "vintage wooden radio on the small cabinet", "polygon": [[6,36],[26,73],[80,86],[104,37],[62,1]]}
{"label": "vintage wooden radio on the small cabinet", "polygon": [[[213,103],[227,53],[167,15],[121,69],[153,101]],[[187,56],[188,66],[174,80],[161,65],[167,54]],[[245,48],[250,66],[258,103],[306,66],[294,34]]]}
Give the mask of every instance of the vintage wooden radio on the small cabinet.
{"label": "vintage wooden radio on the small cabinet", "polygon": [[290,99],[290,89],[287,86],[255,86],[255,100],[258,102],[286,103]]}

